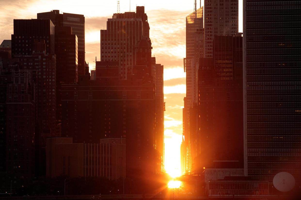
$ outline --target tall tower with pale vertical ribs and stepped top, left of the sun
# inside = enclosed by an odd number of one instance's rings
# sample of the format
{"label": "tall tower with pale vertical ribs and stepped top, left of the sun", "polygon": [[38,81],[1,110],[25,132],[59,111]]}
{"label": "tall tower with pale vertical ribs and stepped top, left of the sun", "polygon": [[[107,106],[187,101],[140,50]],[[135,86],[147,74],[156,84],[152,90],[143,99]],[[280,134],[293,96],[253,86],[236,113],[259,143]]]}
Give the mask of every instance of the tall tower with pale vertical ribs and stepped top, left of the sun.
{"label": "tall tower with pale vertical ribs and stepped top, left of the sun", "polygon": [[137,64],[136,49],[142,38],[151,44],[144,6],[137,6],[136,13],[115,13],[107,21],[107,30],[100,31],[101,61],[118,61],[119,78],[127,79]]}

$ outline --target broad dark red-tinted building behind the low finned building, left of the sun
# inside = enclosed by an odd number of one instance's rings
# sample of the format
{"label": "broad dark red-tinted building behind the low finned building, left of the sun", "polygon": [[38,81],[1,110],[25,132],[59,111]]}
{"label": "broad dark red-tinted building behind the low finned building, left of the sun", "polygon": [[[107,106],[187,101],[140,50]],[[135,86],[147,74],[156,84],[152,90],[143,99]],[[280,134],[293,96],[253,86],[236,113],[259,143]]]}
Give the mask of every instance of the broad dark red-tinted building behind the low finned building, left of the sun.
{"label": "broad dark red-tinted building behind the low finned building, left of the sun", "polygon": [[154,172],[154,85],[146,67],[119,80],[118,62],[97,61],[96,81],[62,85],[62,136],[92,143],[126,138],[126,174]]}

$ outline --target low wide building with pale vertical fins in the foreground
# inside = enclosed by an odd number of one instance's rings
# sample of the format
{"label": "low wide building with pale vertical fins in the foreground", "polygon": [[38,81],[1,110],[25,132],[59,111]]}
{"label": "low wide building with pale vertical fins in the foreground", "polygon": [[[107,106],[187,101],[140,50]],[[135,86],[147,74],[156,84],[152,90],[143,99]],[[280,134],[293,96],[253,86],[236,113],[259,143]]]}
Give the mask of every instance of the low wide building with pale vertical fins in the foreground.
{"label": "low wide building with pale vertical fins in the foreground", "polygon": [[126,178],[126,139],[72,143],[72,138],[47,139],[47,176]]}

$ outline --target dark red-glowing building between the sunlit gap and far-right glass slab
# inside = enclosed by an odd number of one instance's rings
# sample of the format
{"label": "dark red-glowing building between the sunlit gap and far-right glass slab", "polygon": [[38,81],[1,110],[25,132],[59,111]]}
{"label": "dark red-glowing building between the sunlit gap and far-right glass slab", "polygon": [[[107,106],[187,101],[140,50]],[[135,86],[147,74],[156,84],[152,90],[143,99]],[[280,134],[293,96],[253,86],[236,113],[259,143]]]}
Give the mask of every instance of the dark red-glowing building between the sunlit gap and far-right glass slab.
{"label": "dark red-glowing building between the sunlit gap and far-right glass slab", "polygon": [[199,155],[194,167],[243,168],[242,37],[214,36],[213,58],[201,58],[200,63],[199,131],[191,134],[196,144],[191,153]]}

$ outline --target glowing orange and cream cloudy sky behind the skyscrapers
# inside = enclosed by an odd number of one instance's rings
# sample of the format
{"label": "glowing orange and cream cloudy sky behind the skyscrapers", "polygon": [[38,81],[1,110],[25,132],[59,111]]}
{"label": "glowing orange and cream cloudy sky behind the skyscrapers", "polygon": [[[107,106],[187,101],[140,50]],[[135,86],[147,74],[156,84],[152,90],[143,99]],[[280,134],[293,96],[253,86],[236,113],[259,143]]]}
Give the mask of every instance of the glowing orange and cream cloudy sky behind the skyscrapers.
{"label": "glowing orange and cream cloudy sky behind the skyscrapers", "polygon": [[[241,10],[241,1],[240,10]],[[197,1],[197,7],[200,7]],[[117,12],[117,1],[105,0],[1,0],[0,42],[11,39],[13,19],[35,19],[36,13],[60,10],[85,15],[85,51],[89,67],[100,58],[100,29]],[[150,25],[152,55],[164,65],[165,167],[180,175],[182,108],[186,93],[183,57],[185,57],[185,17],[193,11],[193,0],[131,0],[131,11],[145,6]],[[128,12],[129,0],[120,0],[120,12]],[[241,13],[240,13],[241,15]],[[240,19],[242,17],[240,16]],[[240,20],[240,30],[242,23]]]}

